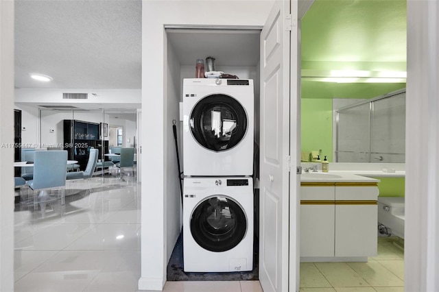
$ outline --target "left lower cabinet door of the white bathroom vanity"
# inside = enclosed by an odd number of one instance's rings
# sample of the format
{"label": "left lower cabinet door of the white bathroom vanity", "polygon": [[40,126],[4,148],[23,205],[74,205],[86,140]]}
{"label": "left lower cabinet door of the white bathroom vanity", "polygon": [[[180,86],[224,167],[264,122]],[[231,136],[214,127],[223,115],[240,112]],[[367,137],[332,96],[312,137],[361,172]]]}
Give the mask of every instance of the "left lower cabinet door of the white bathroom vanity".
{"label": "left lower cabinet door of the white bathroom vanity", "polygon": [[334,256],[335,205],[300,205],[300,256]]}

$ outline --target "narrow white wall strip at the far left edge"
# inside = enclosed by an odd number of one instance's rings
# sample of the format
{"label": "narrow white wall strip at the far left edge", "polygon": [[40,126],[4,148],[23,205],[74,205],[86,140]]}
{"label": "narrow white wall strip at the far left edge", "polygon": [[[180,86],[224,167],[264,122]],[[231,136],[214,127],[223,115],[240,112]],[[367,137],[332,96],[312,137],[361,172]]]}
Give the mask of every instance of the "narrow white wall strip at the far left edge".
{"label": "narrow white wall strip at the far left edge", "polygon": [[[0,1],[0,145],[14,143],[14,1]],[[0,291],[14,290],[14,147],[0,148]]]}

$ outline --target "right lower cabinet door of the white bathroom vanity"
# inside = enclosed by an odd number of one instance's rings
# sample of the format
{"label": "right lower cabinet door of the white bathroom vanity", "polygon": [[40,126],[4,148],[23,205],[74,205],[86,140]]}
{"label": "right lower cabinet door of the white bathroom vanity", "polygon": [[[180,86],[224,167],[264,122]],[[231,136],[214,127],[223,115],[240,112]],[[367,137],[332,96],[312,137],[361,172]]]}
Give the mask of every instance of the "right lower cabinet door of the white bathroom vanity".
{"label": "right lower cabinet door of the white bathroom vanity", "polygon": [[377,255],[377,204],[335,205],[335,256]]}

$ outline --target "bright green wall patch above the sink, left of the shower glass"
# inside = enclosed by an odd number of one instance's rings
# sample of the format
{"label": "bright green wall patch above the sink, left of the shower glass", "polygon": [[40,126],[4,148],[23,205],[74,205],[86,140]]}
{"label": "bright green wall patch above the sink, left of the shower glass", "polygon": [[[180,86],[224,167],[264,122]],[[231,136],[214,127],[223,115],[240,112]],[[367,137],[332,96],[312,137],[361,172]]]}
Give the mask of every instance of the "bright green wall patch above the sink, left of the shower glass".
{"label": "bright green wall patch above the sink, left of the shower glass", "polygon": [[301,99],[302,151],[322,149],[332,161],[332,99]]}

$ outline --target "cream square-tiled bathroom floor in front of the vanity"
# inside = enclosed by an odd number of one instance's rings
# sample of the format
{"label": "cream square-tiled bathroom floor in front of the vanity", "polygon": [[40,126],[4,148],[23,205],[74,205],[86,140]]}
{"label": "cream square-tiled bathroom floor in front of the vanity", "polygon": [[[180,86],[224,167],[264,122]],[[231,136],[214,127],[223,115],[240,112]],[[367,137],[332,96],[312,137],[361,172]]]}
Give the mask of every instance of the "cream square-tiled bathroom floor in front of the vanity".
{"label": "cream square-tiled bathroom floor in front of the vanity", "polygon": [[378,239],[378,255],[367,263],[301,263],[301,292],[403,292],[404,252],[394,242]]}

